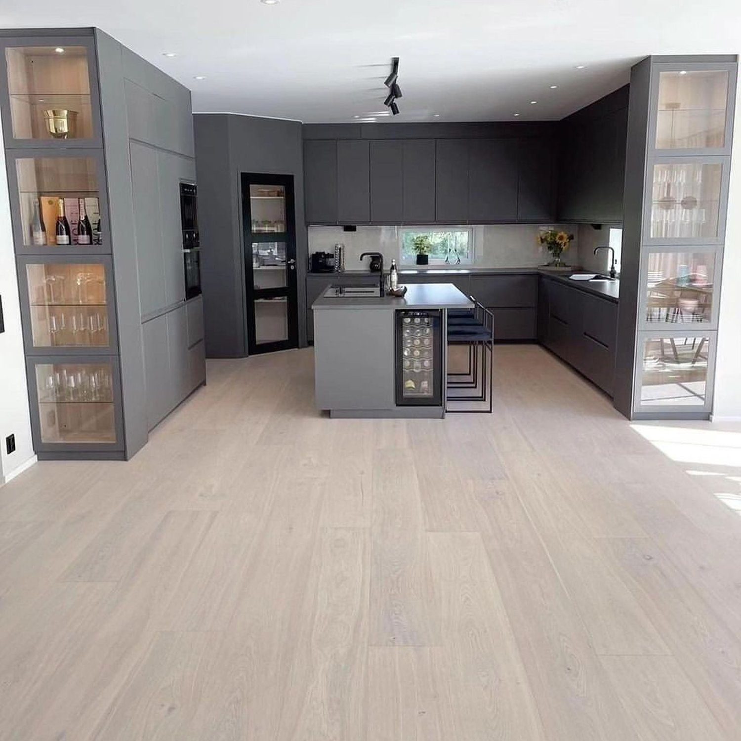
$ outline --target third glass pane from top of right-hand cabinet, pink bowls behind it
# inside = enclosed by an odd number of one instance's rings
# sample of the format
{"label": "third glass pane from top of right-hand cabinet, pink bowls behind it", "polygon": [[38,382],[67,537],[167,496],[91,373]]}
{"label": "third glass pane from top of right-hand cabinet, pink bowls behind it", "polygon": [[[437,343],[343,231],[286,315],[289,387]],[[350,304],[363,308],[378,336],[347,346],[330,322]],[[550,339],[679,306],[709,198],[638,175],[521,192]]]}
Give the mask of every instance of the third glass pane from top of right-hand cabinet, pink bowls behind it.
{"label": "third glass pane from top of right-hand cabinet, pink bowls behind it", "polygon": [[711,252],[650,253],[646,273],[646,322],[711,322],[714,273],[715,254]]}

